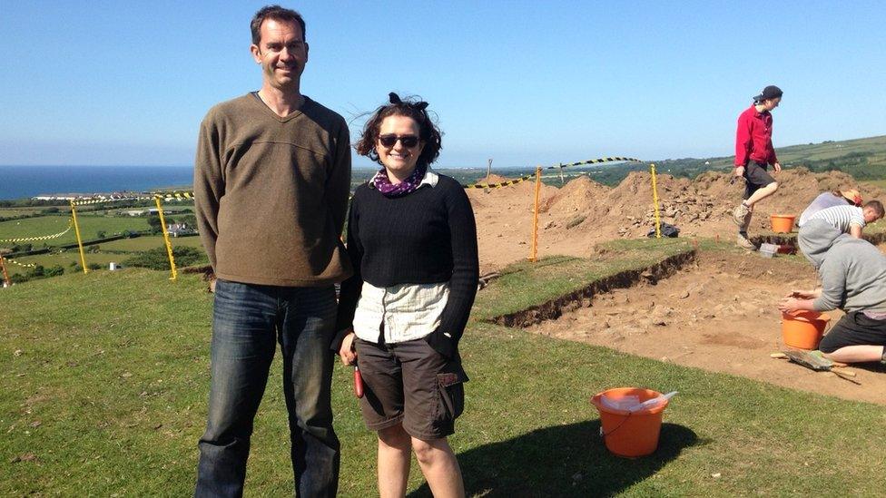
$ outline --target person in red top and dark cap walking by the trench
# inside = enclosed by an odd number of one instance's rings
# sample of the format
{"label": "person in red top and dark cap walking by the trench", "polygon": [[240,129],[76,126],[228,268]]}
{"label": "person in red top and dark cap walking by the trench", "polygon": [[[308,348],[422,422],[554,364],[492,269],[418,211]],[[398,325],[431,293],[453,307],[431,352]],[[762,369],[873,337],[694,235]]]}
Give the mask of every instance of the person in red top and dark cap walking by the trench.
{"label": "person in red top and dark cap walking by the trench", "polygon": [[738,116],[735,133],[735,177],[744,179],[743,202],[733,210],[733,221],[738,225],[739,247],[757,249],[748,239],[753,206],[773,195],[778,183],[769,174],[769,165],[777,173],[782,171],[773,148],[772,111],[782,102],[782,89],[775,85],[763,88],[753,97],[751,107]]}

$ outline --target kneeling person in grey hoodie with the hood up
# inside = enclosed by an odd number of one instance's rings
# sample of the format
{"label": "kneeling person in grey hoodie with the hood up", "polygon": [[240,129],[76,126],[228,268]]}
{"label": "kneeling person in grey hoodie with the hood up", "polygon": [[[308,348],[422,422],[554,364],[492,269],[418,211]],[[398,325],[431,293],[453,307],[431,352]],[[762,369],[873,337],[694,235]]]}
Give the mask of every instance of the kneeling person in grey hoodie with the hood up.
{"label": "kneeling person in grey hoodie with the hood up", "polygon": [[[820,225],[820,226],[812,226]],[[794,290],[778,304],[797,310],[846,312],[822,338],[824,356],[842,363],[886,363],[886,256],[825,220],[809,220],[798,236],[803,256],[822,279],[815,290]]]}

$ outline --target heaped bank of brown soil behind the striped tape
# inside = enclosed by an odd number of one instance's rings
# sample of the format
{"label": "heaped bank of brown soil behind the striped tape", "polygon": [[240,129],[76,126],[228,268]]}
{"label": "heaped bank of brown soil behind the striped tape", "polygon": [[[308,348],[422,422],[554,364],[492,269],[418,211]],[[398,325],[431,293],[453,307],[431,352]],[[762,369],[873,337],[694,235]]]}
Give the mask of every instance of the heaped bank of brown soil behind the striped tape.
{"label": "heaped bank of brown soil behind the striped tape", "polygon": [[[780,188],[754,213],[751,235],[769,230],[773,213],[800,215],[822,191],[860,188],[864,199],[883,199],[883,190],[858,185],[841,171],[812,173],[803,168],[775,175]],[[661,220],[680,228],[681,237],[735,237],[729,212],[741,200],[743,186],[730,184],[729,172],[707,172],[694,181],[657,175]],[[507,180],[493,175],[490,182]],[[500,269],[529,256],[535,185],[488,191],[470,189],[477,218],[481,272]],[[609,188],[586,176],[562,188],[542,186],[538,223],[538,256],[553,254],[590,257],[603,240],[645,237],[654,223],[649,173],[632,172]]]}

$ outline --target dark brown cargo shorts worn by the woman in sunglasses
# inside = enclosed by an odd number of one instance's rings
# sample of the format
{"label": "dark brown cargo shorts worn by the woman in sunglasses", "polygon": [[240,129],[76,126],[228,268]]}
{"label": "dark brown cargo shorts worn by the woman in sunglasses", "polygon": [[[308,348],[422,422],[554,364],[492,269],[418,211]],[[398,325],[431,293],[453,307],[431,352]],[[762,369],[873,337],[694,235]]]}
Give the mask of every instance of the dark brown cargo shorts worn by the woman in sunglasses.
{"label": "dark brown cargo shorts worn by the woman in sunglasses", "polygon": [[363,376],[360,411],[369,430],[402,423],[407,434],[424,441],[455,432],[468,382],[458,359],[441,356],[423,338],[396,344],[358,338],[354,343]]}

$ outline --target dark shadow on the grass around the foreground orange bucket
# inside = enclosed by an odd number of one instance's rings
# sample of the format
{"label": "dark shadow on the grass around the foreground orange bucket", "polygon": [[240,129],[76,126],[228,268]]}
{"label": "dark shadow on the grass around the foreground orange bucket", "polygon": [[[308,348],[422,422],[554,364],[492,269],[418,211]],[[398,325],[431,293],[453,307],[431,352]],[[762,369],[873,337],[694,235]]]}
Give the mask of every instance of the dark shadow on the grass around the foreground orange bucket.
{"label": "dark shadow on the grass around the foreground orange bucket", "polygon": [[[655,453],[628,459],[610,454],[599,431],[599,420],[558,425],[458,454],[468,496],[607,496],[704,444],[683,425],[663,424]],[[431,496],[428,484],[409,496]]]}

